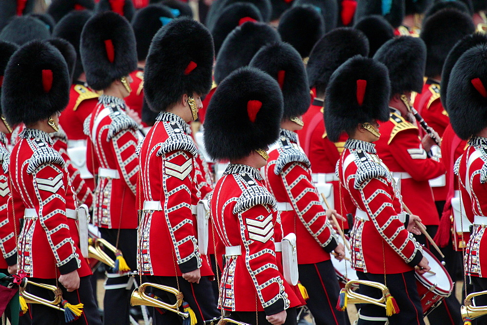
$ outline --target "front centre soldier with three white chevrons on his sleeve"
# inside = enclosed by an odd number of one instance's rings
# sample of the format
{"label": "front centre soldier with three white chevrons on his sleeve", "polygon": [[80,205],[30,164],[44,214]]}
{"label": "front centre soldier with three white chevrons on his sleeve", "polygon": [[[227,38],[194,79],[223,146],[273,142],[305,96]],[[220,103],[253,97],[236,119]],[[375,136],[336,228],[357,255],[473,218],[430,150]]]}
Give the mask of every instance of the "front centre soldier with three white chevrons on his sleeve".
{"label": "front centre soldier with three white chevrons on his sleeve", "polygon": [[[295,307],[301,305],[284,280],[281,217],[259,173],[269,158],[265,150],[278,139],[282,105],[279,84],[245,67],[218,86],[206,114],[208,154],[230,161],[211,198],[215,231],[225,247],[219,305],[248,324],[296,324]],[[287,266],[297,267],[292,261]]]}

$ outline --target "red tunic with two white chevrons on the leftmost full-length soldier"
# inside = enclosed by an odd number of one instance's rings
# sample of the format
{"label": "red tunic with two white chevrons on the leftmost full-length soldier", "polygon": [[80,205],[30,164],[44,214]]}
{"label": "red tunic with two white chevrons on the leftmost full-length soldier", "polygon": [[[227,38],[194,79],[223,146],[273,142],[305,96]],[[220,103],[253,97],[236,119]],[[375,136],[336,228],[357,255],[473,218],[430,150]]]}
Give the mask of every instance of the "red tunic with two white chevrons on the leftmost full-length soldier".
{"label": "red tunic with two white chevrons on the leftmost full-length soldier", "polygon": [[76,198],[63,158],[43,131],[26,128],[19,138],[9,164],[15,218],[24,219],[19,270],[45,279],[75,270],[79,276],[92,274],[79,250],[77,221],[67,217]]}

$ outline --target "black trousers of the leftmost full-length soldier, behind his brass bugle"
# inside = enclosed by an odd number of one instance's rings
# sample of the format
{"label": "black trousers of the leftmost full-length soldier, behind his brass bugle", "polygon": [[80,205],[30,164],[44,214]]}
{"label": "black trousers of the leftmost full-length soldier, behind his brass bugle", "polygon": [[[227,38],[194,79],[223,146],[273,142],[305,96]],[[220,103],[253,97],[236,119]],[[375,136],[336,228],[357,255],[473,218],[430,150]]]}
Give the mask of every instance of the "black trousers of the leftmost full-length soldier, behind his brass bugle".
{"label": "black trousers of the leftmost full-length soldier, behind his brass bugle", "polygon": [[[66,299],[71,305],[77,305],[79,303],[83,304],[83,313],[81,314],[81,317],[69,324],[101,325],[98,307],[96,307],[96,304],[94,303],[90,277],[91,275],[79,278],[79,289],[73,292],[68,292],[61,284],[58,285],[62,290],[63,299]],[[29,280],[53,286],[56,285],[56,279],[30,278]],[[50,290],[43,289],[38,286],[28,285],[27,290],[40,298],[49,300],[54,298],[54,294]],[[32,310],[32,324],[66,324],[64,320],[64,313],[62,311],[40,304],[30,304],[29,308]]]}

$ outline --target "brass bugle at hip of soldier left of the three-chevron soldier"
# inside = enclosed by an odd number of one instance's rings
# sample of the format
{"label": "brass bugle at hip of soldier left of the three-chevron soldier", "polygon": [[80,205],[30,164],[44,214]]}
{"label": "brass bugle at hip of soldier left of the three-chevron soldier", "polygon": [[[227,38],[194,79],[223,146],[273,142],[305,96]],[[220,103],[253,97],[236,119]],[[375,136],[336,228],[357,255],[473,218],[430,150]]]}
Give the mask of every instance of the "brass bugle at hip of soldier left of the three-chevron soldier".
{"label": "brass bugle at hip of soldier left of the three-chevron soldier", "polygon": [[[167,292],[174,294],[176,296],[176,303],[171,305],[171,304],[165,303],[163,301],[160,301],[158,299],[155,299],[155,298],[148,296],[145,292],[147,287],[153,287],[153,288],[160,289],[160,290],[167,291]],[[159,307],[159,308],[163,308],[163,309],[175,312],[176,314],[178,314],[184,318],[189,317],[188,312],[182,312],[179,310],[179,307],[181,307],[181,305],[183,304],[183,294],[177,289],[167,287],[167,286],[158,285],[155,283],[146,282],[146,283],[141,284],[139,286],[139,288],[133,290],[132,295],[130,297],[130,304],[131,304],[131,306]]]}

